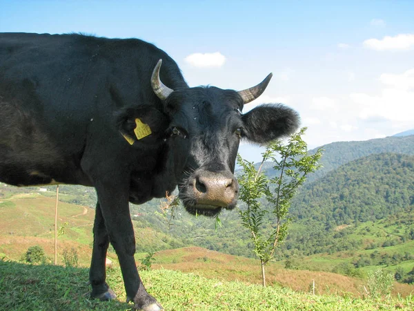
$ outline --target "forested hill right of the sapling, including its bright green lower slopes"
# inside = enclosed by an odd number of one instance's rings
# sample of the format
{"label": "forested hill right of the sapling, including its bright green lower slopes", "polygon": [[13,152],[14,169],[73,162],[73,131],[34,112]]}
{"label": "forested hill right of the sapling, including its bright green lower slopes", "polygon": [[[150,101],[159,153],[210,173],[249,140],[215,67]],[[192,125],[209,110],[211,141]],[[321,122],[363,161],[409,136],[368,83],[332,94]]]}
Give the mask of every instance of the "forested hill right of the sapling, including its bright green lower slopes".
{"label": "forested hill right of the sapling, including its bright green lower slopes", "polygon": [[[300,191],[290,209],[295,220],[282,254],[339,252],[364,249],[374,241],[376,246],[390,246],[413,240],[413,210],[414,156],[382,153],[355,160]],[[386,232],[395,225],[398,232],[370,236],[371,241],[358,229],[382,227]]]}

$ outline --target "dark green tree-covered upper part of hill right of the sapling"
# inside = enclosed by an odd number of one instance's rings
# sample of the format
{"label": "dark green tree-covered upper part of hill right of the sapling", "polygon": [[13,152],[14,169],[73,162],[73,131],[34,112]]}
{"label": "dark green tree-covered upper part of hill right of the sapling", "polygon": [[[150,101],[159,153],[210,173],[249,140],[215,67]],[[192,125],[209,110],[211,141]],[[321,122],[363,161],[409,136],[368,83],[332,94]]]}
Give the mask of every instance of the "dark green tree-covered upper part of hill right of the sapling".
{"label": "dark green tree-covered upper part of hill right of the sapling", "polygon": [[291,214],[326,228],[375,221],[414,208],[414,156],[373,154],[306,185]]}

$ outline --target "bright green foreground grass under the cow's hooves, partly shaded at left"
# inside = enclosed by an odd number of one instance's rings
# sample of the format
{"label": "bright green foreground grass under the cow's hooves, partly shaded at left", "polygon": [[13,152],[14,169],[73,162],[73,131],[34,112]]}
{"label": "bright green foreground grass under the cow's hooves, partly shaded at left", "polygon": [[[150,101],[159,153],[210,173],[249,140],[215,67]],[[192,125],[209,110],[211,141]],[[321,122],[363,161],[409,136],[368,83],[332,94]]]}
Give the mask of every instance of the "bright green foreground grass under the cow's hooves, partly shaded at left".
{"label": "bright green foreground grass under the cow's hooves, partly shaded at left", "polygon": [[[286,288],[205,279],[172,270],[141,272],[150,294],[165,310],[413,310],[414,299],[369,299],[311,295]],[[119,269],[108,283],[119,301],[89,299],[88,269],[0,261],[1,310],[130,310]]]}

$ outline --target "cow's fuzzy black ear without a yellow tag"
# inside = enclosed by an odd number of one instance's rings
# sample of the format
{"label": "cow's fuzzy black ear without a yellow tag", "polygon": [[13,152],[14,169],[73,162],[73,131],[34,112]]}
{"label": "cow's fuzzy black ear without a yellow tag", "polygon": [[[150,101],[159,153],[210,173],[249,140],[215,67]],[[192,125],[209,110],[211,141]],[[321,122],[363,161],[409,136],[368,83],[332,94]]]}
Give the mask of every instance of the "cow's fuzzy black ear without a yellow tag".
{"label": "cow's fuzzy black ear without a yellow tag", "polygon": [[243,136],[250,142],[266,144],[294,133],[299,115],[282,104],[263,104],[242,115]]}

